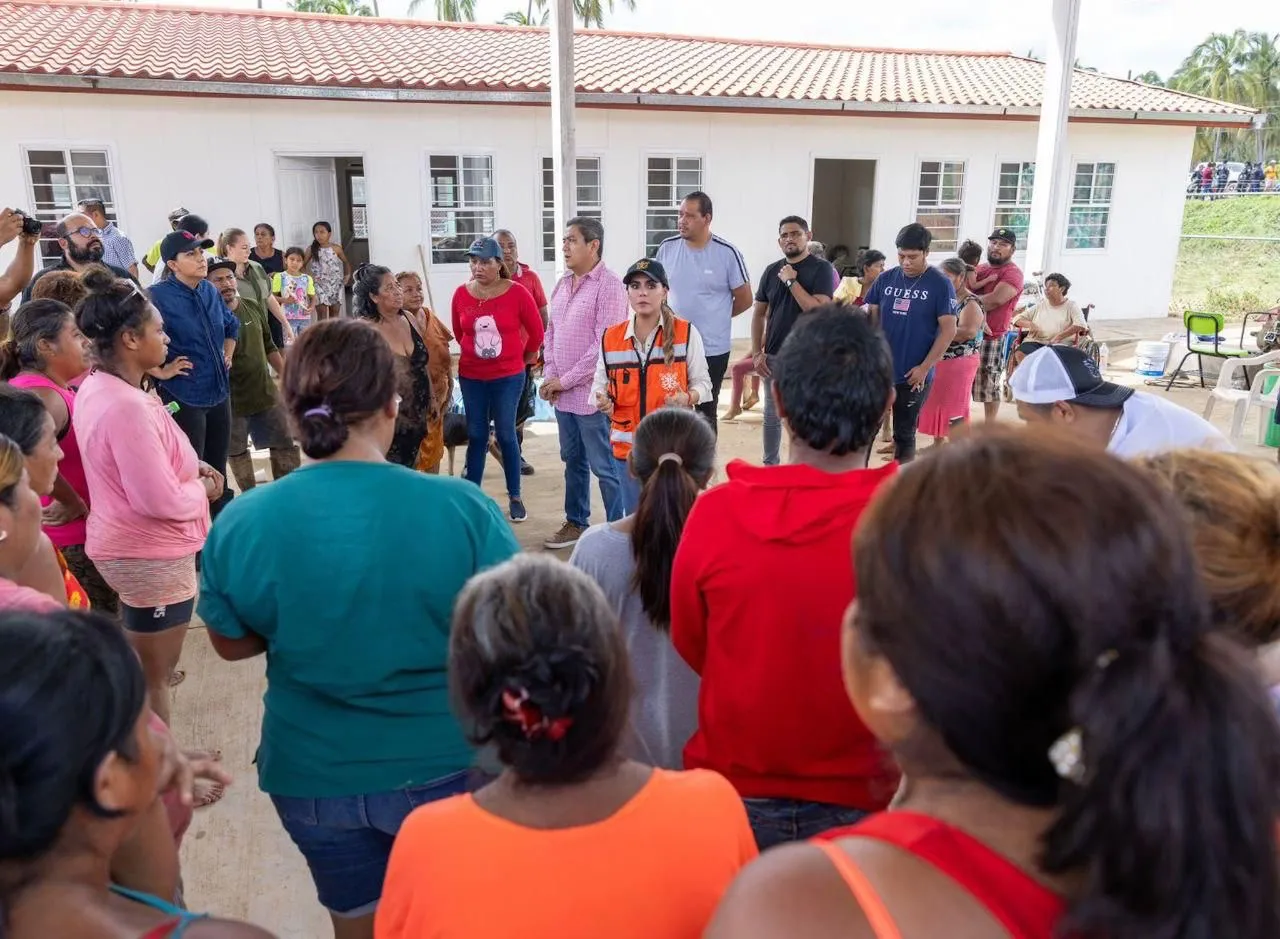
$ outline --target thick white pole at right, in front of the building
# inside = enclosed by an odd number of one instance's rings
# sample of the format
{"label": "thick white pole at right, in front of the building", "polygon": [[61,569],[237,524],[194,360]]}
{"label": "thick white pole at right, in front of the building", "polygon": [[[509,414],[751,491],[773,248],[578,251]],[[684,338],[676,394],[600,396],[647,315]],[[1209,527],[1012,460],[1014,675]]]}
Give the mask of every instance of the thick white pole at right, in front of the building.
{"label": "thick white pole at right, in front of the building", "polygon": [[1044,59],[1044,97],[1036,141],[1036,189],[1032,193],[1027,272],[1048,271],[1066,237],[1066,119],[1071,107],[1071,65],[1080,26],[1080,0],[1052,0],[1051,36]]}

